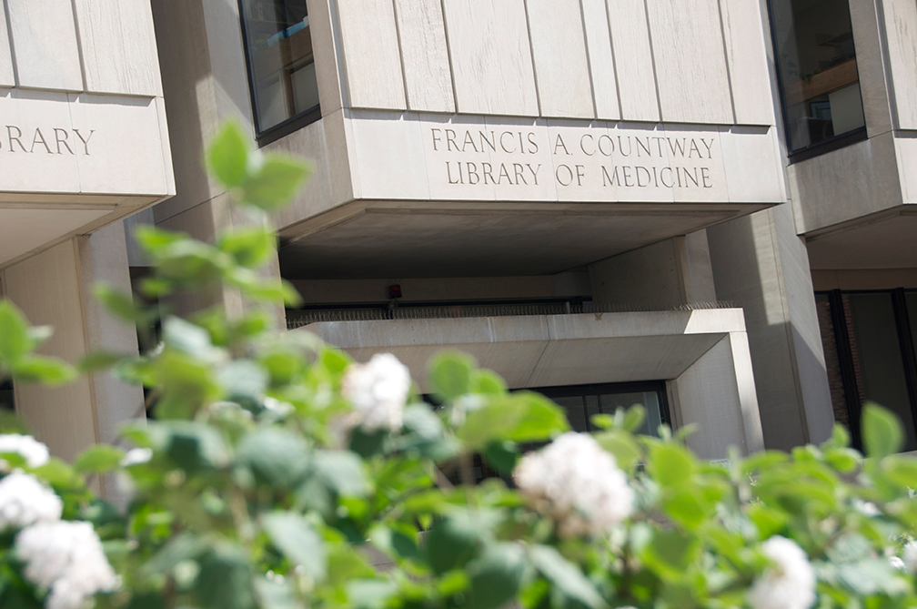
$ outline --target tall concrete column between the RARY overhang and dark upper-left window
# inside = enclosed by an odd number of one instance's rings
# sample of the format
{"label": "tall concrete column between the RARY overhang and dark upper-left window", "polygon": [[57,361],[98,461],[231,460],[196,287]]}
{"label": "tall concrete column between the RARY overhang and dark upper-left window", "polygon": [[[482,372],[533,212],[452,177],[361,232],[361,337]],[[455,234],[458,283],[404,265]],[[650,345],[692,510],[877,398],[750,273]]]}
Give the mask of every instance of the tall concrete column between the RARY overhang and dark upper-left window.
{"label": "tall concrete column between the RARY overhang and dark upper-left window", "polygon": [[[238,4],[153,0],[152,10],[162,89],[170,107],[177,194],[153,208],[151,221],[213,242],[220,231],[250,222],[244,213],[232,208],[229,194],[208,176],[203,161],[207,144],[226,120],[238,121],[243,130],[254,136]],[[262,274],[266,278],[280,277],[276,256]],[[226,315],[236,317],[245,308],[238,291],[232,289],[185,294],[172,304],[184,315],[221,304]],[[285,328],[283,306],[268,308],[275,326]]]}

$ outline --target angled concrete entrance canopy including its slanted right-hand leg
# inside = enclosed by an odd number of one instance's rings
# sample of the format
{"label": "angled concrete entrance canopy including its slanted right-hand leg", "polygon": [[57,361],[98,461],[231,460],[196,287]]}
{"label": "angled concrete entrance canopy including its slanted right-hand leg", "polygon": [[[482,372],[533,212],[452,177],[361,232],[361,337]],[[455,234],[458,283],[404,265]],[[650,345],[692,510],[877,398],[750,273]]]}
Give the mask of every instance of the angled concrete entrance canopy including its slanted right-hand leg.
{"label": "angled concrete entrance canopy including its slanted right-hand leg", "polygon": [[670,381],[673,417],[678,426],[699,424],[691,445],[702,455],[764,448],[741,309],[337,321],[293,331],[313,332],[359,361],[392,352],[423,391],[427,361],[442,349],[470,353],[514,389]]}

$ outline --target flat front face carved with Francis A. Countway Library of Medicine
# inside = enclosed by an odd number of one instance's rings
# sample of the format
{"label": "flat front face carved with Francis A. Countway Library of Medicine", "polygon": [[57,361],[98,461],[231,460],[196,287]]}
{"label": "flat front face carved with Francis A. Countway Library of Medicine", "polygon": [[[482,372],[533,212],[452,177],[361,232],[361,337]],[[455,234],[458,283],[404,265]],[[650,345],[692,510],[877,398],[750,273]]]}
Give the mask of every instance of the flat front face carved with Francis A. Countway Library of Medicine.
{"label": "flat front face carved with Francis A. Countway Library of Medicine", "polygon": [[[363,113],[347,119],[362,199],[595,203],[780,203],[762,127]],[[722,143],[727,138],[728,146]],[[370,177],[370,175],[372,177]],[[745,181],[749,180],[746,188]]]}

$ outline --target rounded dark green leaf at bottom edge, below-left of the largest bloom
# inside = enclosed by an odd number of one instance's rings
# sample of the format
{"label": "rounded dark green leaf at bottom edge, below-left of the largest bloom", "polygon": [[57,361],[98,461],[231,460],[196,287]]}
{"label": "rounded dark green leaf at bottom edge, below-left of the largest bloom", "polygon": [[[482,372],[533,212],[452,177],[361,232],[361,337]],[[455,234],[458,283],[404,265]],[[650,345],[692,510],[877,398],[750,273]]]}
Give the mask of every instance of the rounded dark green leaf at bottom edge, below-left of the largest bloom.
{"label": "rounded dark green leaf at bottom edge, below-left of the largest bloom", "polygon": [[471,580],[470,607],[497,609],[519,592],[525,573],[525,552],[516,544],[494,544],[466,569]]}

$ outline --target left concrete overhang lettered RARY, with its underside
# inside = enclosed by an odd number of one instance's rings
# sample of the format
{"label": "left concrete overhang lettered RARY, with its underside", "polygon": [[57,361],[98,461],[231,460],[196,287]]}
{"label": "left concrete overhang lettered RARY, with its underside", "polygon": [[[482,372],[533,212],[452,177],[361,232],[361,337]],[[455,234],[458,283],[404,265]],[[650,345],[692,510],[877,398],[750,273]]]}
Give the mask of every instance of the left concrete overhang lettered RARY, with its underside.
{"label": "left concrete overhang lettered RARY, with its underside", "polygon": [[0,91],[0,268],[175,194],[161,97]]}

